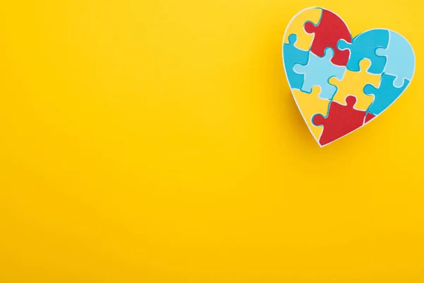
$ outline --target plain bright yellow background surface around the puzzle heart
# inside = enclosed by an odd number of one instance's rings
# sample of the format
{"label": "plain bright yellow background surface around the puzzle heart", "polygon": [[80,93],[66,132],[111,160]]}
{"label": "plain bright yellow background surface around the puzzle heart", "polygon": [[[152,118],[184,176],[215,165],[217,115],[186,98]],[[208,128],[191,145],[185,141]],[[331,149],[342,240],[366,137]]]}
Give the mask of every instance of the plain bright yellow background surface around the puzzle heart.
{"label": "plain bright yellow background surface around the puzzle heart", "polygon": [[[281,59],[315,5],[417,60],[324,148]],[[424,282],[420,5],[1,1],[0,282]]]}

